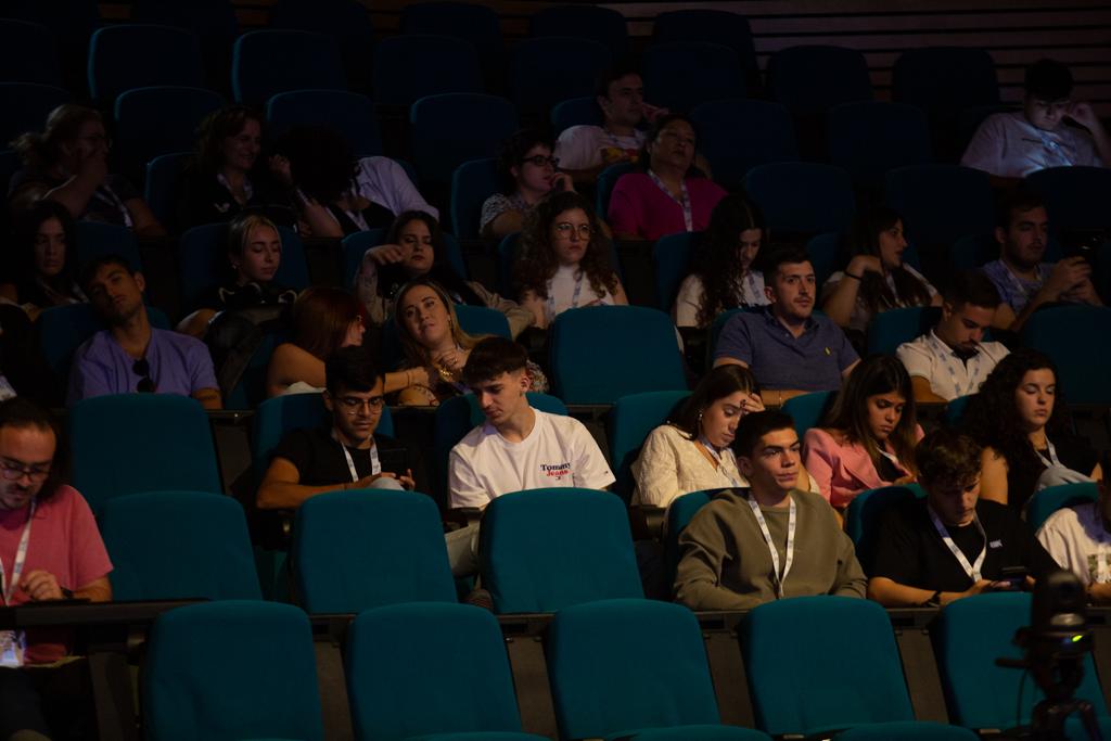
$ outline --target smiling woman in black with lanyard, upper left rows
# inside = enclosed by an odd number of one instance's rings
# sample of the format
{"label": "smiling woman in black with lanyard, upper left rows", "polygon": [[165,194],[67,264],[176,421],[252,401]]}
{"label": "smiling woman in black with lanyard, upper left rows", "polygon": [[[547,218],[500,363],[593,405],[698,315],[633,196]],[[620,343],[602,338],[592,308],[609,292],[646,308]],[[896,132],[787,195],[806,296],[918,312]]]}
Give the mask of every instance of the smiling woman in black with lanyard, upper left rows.
{"label": "smiling woman in black with lanyard, upper left rows", "polygon": [[186,230],[229,221],[248,209],[266,209],[271,216],[276,207],[289,209],[289,197],[258,167],[261,151],[260,113],[247,106],[209,113],[178,188],[178,226]]}

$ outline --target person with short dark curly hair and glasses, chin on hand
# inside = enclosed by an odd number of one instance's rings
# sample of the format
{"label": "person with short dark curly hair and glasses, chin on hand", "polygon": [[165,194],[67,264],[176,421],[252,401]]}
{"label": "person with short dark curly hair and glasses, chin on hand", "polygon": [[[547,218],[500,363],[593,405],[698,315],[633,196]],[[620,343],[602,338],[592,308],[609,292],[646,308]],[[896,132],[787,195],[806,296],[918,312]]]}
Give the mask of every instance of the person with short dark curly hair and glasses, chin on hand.
{"label": "person with short dark curly hair and glasses, chin on hand", "polygon": [[482,204],[479,232],[486,239],[501,239],[521,231],[524,217],[552,191],[573,191],[571,176],[557,172],[552,143],[537,131],[522,130],[501,142],[498,179],[501,192]]}

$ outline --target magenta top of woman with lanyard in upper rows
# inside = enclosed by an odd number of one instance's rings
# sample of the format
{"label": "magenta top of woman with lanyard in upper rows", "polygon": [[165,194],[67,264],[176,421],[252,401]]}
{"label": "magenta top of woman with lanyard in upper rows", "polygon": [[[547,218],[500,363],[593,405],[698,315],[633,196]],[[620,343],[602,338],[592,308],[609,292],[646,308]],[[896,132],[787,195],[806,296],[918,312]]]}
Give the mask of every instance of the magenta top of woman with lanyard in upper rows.
{"label": "magenta top of woman with lanyard in upper rows", "polygon": [[[727,192],[709,178],[688,178],[684,182],[691,199],[690,231],[703,231],[710,224],[713,208]],[[629,172],[618,178],[610,196],[608,216],[614,234],[637,234],[641,239],[655,240],[688,231],[683,207],[652,182],[647,172]]]}

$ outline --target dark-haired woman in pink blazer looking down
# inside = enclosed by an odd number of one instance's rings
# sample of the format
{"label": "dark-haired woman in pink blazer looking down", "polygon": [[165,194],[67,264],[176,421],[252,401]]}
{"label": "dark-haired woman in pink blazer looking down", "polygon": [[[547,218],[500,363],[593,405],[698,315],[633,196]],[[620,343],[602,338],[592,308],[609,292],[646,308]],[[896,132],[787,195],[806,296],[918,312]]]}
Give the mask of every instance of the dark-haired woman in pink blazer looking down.
{"label": "dark-haired woman in pink blazer looking down", "polygon": [[862,491],[914,480],[922,438],[910,377],[891,356],[872,356],[849,374],[821,427],[802,438],[807,469],[839,511]]}

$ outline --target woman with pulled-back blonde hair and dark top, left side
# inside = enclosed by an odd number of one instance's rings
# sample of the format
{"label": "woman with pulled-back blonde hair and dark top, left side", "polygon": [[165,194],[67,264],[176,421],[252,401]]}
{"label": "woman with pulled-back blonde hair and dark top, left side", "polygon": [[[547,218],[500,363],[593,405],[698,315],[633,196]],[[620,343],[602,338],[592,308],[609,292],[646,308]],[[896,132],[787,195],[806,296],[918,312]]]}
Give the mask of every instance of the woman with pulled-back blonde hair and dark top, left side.
{"label": "woman with pulled-back blonde hair and dark top, left side", "polygon": [[249,212],[232,219],[227,259],[231,267],[228,279],[201,296],[201,308],[182,319],[178,331],[204,337],[221,311],[291,304],[297,299],[297,291],[273,282],[281,264],[281,236],[264,216]]}

